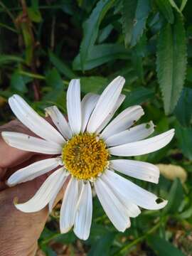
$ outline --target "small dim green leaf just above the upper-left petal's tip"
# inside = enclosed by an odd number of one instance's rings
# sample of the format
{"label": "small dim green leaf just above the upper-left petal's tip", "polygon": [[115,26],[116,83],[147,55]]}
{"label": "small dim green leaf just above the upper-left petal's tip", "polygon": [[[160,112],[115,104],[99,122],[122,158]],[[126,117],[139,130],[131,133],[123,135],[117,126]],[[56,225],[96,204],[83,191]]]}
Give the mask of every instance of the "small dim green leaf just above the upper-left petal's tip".
{"label": "small dim green leaf just above the upper-left petal's tip", "polygon": [[18,71],[15,71],[13,75],[11,75],[11,89],[21,93],[28,91],[26,82],[23,79],[23,76],[18,73]]}

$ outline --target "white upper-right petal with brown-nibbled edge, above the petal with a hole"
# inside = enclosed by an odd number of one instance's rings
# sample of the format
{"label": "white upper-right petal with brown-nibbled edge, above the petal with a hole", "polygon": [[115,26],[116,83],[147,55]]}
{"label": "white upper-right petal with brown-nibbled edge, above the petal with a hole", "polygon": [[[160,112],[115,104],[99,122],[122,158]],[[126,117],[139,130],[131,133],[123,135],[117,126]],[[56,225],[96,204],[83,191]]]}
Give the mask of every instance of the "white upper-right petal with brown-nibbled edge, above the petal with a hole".
{"label": "white upper-right petal with brown-nibbled edge, above the petal with a hole", "polygon": [[131,127],[144,114],[141,106],[128,107],[115,117],[110,124],[102,131],[102,139],[107,139],[114,134],[124,131]]}

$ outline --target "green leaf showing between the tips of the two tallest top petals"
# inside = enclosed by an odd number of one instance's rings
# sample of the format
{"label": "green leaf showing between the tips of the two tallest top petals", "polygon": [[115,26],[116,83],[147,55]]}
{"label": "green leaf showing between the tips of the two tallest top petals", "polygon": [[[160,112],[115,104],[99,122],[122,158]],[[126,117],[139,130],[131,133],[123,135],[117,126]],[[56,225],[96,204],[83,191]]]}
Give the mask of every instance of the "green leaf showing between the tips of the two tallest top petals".
{"label": "green leaf showing between the tips of the two tallest top petals", "polygon": [[89,78],[80,78],[81,90],[84,93],[93,92],[99,93],[107,85],[107,78],[102,77],[89,77]]}

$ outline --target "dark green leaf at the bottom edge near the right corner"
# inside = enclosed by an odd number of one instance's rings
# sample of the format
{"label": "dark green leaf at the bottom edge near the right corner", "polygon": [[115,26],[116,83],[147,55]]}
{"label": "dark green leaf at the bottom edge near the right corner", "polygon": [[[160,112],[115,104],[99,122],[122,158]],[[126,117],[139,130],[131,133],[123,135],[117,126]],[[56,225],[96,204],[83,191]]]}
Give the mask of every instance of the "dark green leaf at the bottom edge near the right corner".
{"label": "dark green leaf at the bottom edge near the right corner", "polygon": [[151,235],[148,239],[150,247],[157,252],[159,256],[184,256],[183,252],[174,247],[164,238],[159,238],[157,235]]}

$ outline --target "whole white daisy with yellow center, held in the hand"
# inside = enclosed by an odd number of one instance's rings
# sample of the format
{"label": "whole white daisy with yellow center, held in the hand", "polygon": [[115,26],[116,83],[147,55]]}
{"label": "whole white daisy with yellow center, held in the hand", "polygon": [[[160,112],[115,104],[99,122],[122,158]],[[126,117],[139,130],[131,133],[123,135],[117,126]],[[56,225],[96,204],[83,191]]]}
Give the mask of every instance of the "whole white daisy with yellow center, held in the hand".
{"label": "whole white daisy with yellow center, held in the hand", "polygon": [[[110,159],[111,156],[138,156],[161,149],[174,137],[174,129],[155,137],[152,122],[132,127],[142,117],[142,107],[127,107],[115,117],[114,112],[122,104],[124,78],[115,78],[102,95],[88,93],[80,100],[80,80],[71,80],[67,92],[68,122],[57,107],[46,108],[58,128],[55,129],[39,116],[20,96],[9,99],[16,117],[38,137],[16,132],[2,132],[10,146],[42,154],[55,154],[55,158],[37,161],[16,171],[8,180],[9,186],[30,181],[54,171],[26,203],[16,208],[31,213],[46,205],[53,208],[55,198],[70,179],[60,209],[60,232],[74,233],[83,240],[90,234],[92,221],[92,188],[117,230],[124,232],[130,227],[130,217],[135,218],[141,208],[156,210],[166,206],[158,203],[158,197],[119,173],[158,183],[159,169],[153,164],[128,159]],[[110,122],[110,124],[108,124]],[[130,128],[132,127],[132,128]],[[41,137],[41,138],[40,138]],[[116,173],[118,172],[118,174]]]}

